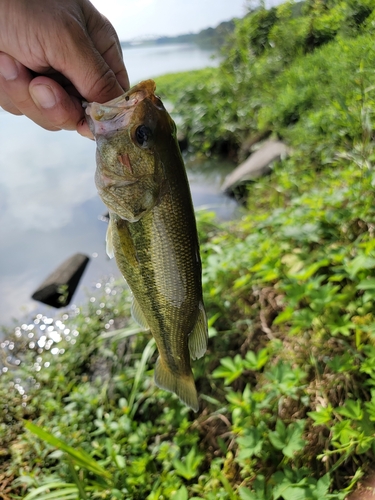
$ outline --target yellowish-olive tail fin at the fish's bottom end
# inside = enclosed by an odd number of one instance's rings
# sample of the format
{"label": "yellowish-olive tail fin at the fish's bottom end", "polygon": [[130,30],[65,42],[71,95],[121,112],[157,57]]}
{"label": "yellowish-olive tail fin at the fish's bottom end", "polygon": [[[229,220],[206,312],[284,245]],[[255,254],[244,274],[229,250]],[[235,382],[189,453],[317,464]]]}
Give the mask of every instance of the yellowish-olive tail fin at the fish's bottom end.
{"label": "yellowish-olive tail fin at the fish's bottom end", "polygon": [[192,373],[185,376],[175,375],[159,357],[155,365],[155,383],[160,389],[176,394],[195,412],[199,410],[198,394]]}

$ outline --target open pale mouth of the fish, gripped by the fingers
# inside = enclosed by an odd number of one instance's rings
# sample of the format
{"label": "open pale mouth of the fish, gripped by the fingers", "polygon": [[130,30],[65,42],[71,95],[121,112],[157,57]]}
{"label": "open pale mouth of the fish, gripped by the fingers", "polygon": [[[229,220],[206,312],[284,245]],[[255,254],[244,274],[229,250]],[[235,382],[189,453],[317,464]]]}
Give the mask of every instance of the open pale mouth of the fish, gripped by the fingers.
{"label": "open pale mouth of the fish, gripped by the fingers", "polygon": [[155,88],[156,84],[153,80],[146,80],[105,104],[84,102],[83,107],[91,132],[96,137],[126,127],[139,102],[146,98],[154,101]]}

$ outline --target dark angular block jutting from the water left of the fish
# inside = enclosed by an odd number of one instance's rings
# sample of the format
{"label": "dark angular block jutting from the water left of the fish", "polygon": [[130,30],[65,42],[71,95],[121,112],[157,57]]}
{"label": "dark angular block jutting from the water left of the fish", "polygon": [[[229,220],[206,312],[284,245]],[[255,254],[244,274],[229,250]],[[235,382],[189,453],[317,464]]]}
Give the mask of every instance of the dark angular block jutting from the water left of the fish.
{"label": "dark angular block jutting from the water left of the fish", "polygon": [[31,298],[52,307],[65,307],[72,300],[90,258],[77,253],[50,274]]}

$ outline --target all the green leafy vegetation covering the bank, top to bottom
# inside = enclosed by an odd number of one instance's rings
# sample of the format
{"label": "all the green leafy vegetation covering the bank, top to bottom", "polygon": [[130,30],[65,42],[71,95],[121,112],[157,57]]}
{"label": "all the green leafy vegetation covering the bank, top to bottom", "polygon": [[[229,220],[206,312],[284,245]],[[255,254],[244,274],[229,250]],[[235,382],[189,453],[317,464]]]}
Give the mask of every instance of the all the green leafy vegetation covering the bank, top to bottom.
{"label": "all the green leafy vegetation covering the bank, top to bottom", "polygon": [[[190,151],[292,146],[243,215],[198,212],[201,410],[154,386],[123,284],[6,332],[5,499],[346,498],[375,459],[373,7],[257,10],[218,69],[167,76]],[[22,362],[20,362],[22,358]]]}

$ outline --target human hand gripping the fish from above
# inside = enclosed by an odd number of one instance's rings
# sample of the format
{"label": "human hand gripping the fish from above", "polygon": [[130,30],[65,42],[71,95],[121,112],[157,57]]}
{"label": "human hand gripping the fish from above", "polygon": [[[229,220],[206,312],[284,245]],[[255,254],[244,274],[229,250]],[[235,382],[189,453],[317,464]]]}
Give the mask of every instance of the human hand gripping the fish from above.
{"label": "human hand gripping the fish from above", "polygon": [[89,0],[0,0],[0,106],[93,137],[82,98],[129,88],[117,34]]}

